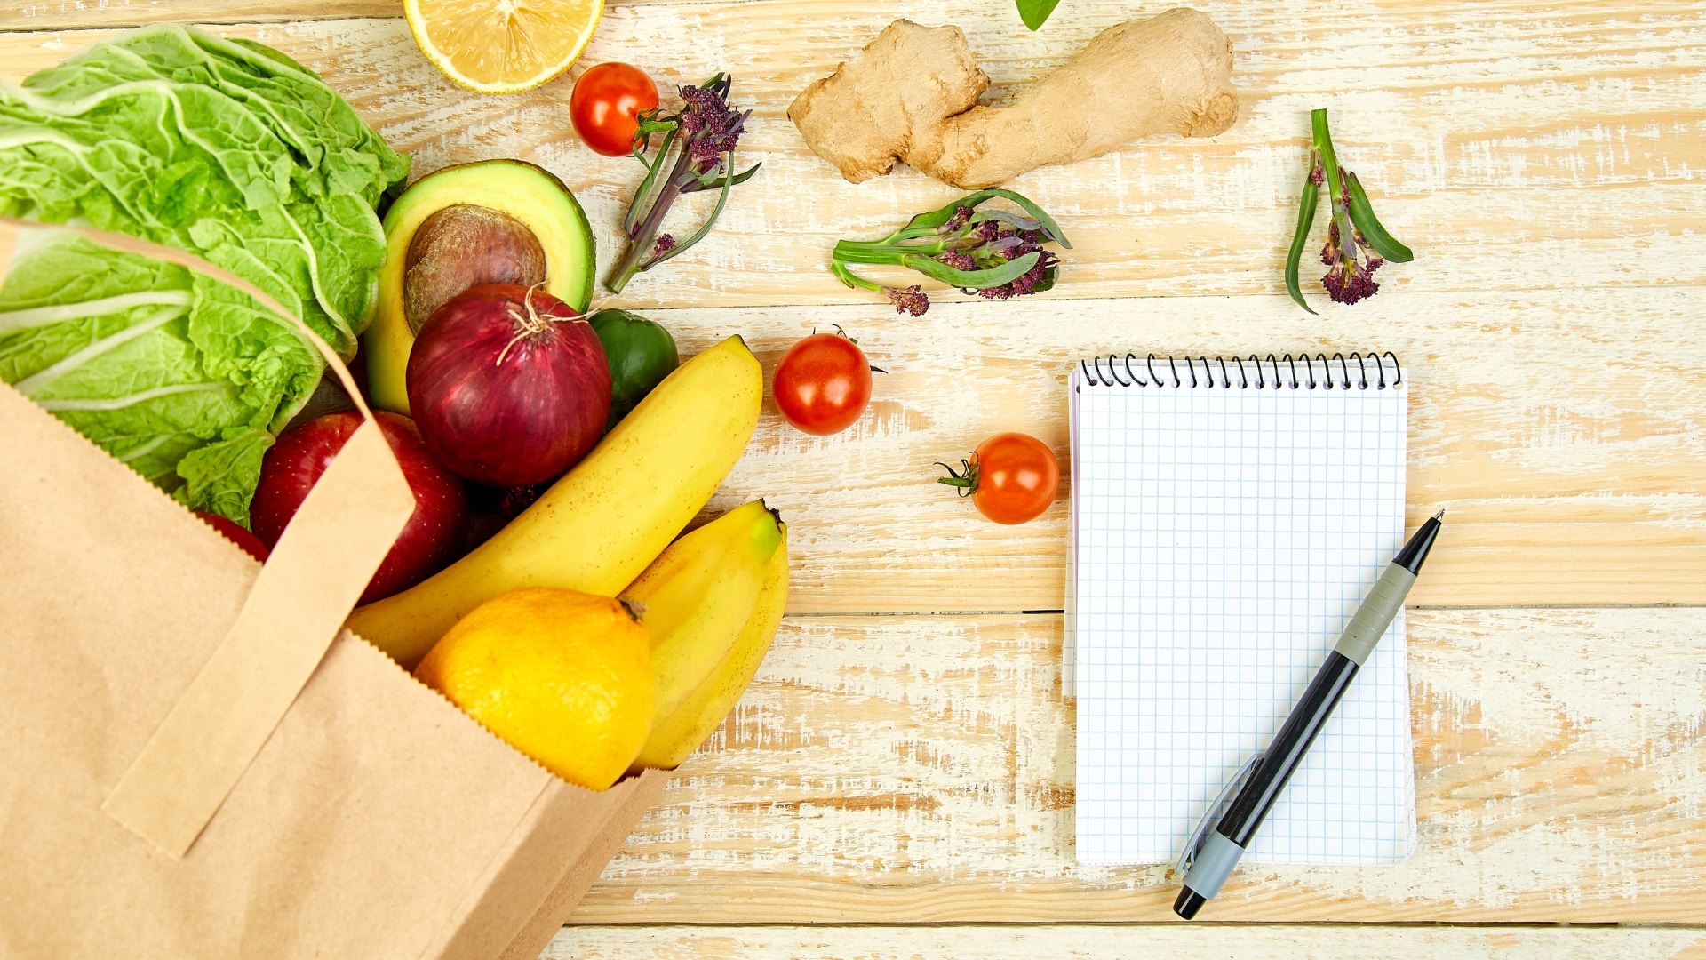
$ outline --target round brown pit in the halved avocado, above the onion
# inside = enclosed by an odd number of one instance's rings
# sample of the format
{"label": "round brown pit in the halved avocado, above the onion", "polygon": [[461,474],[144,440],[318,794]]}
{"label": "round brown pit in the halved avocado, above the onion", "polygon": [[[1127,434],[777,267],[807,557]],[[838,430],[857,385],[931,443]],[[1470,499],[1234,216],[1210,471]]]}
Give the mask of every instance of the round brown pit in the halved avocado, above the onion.
{"label": "round brown pit in the halved avocado, above the onion", "polygon": [[409,239],[403,265],[403,316],[409,333],[452,297],[481,284],[534,287],[546,280],[539,237],[502,210],[452,203]]}

